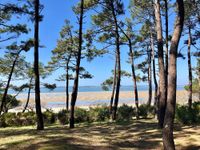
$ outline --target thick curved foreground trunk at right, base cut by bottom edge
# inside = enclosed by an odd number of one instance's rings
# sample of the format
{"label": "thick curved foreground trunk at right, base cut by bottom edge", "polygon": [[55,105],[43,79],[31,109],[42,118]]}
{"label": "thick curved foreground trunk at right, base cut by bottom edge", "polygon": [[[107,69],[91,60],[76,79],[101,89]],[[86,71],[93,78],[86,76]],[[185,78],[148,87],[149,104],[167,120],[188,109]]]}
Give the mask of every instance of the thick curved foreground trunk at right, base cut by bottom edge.
{"label": "thick curved foreground trunk at right, base cut by bottom edge", "polygon": [[170,46],[168,96],[163,127],[163,145],[166,150],[175,150],[173,125],[176,105],[177,50],[184,23],[183,0],[177,0],[176,5],[178,14]]}

